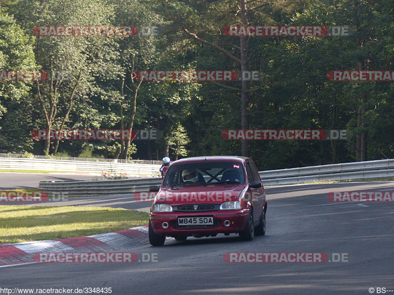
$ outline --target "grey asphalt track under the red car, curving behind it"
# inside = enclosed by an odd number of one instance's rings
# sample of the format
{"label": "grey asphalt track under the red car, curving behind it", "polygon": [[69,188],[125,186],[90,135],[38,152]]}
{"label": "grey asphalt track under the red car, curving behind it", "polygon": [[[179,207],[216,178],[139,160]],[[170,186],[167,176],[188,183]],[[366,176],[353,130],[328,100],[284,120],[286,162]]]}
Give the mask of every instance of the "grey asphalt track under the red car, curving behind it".
{"label": "grey asphalt track under the red car, curving behind it", "polygon": [[[267,232],[253,241],[218,235],[182,242],[169,239],[163,247],[116,249],[135,252],[139,260],[146,253],[157,253],[158,262],[3,267],[0,286],[100,287],[112,288],[113,295],[367,295],[369,288],[374,288],[372,294],[393,294],[389,292],[394,290],[393,202],[331,203],[327,193],[333,191],[394,191],[394,186],[366,182],[268,187]],[[115,198],[75,198],[63,205],[150,206],[134,202],[131,196]],[[227,252],[324,252],[329,260],[331,253],[347,258],[336,263],[227,263],[223,258]]]}

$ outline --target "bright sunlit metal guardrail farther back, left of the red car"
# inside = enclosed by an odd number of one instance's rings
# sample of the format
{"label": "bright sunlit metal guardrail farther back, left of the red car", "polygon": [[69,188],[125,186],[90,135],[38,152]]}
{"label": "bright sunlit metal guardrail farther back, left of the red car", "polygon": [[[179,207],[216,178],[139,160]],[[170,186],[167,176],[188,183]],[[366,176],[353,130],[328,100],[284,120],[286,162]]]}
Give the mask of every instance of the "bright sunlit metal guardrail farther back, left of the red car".
{"label": "bright sunlit metal guardrail farther back, left of the red car", "polygon": [[60,161],[49,159],[0,158],[0,169],[90,172],[155,176],[161,165]]}

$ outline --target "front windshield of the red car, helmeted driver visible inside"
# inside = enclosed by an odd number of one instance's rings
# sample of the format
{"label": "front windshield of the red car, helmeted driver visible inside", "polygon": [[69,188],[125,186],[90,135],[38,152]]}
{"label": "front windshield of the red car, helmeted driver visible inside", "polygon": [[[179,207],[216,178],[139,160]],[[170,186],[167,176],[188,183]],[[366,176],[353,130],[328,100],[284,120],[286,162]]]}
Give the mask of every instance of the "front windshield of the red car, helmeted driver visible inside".
{"label": "front windshield of the red car, helmeted driver visible inside", "polygon": [[201,161],[172,164],[165,173],[163,186],[240,184],[245,182],[244,167],[235,161]]}

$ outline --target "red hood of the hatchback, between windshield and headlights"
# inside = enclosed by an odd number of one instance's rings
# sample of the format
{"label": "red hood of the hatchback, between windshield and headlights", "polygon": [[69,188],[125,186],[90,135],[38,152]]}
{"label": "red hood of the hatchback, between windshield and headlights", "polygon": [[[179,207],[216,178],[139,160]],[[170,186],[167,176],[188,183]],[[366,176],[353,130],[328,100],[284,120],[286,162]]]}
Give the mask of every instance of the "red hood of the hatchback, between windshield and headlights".
{"label": "red hood of the hatchback, between windshield and headlights", "polygon": [[198,185],[161,188],[154,203],[166,203],[172,206],[185,204],[222,204],[236,201],[245,189],[245,185]]}

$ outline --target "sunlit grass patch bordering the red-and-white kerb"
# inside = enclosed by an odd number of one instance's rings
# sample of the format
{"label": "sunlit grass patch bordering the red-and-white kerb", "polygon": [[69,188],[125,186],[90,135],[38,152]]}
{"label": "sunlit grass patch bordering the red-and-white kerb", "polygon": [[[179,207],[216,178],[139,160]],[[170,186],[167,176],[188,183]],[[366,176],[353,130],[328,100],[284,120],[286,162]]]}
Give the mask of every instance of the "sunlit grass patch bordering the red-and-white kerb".
{"label": "sunlit grass patch bordering the red-and-white kerb", "polygon": [[147,224],[149,213],[108,207],[0,206],[0,243],[91,236]]}

